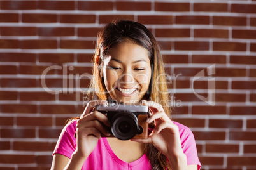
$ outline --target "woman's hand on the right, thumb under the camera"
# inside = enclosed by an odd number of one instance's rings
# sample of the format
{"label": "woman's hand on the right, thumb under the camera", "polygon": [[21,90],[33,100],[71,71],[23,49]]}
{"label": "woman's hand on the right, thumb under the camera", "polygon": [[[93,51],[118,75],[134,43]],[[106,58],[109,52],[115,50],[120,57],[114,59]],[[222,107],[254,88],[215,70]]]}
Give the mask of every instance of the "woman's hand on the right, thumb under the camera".
{"label": "woman's hand on the right, thumb under the camera", "polygon": [[[155,128],[146,139],[131,139],[141,143],[152,143],[168,159],[184,156],[181,148],[181,140],[178,126],[164,112],[164,108],[159,103],[145,101],[153,114],[148,119],[148,123],[155,121]],[[171,161],[171,160],[169,160]]]}

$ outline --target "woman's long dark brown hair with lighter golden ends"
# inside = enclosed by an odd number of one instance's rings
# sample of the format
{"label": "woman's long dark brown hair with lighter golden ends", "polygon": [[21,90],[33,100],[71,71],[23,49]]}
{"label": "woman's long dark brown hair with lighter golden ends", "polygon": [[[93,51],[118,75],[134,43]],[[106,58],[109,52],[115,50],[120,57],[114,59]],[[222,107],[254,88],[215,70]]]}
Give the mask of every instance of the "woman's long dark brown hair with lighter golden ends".
{"label": "woman's long dark brown hair with lighter golden ends", "polygon": [[[97,95],[101,100],[106,100],[109,97],[104,86],[102,64],[104,59],[109,56],[110,49],[120,42],[125,41],[125,39],[129,39],[135,44],[145,48],[148,51],[150,62],[155,65],[153,69],[153,84],[150,100],[157,103],[159,103],[159,101],[169,101],[167,85],[164,83],[166,82],[165,76],[157,77],[157,75],[164,75],[164,64],[162,55],[160,54],[159,44],[150,30],[144,25],[129,20],[119,20],[117,22],[108,23],[103,30],[99,32],[93,58],[93,76],[87,96],[93,98]],[[156,83],[157,81],[161,83]],[[169,108],[168,103],[162,105],[162,107],[167,115],[171,114],[171,108]],[[150,159],[152,169],[171,169],[169,164],[167,164],[167,158],[152,144],[146,145],[146,154]]]}

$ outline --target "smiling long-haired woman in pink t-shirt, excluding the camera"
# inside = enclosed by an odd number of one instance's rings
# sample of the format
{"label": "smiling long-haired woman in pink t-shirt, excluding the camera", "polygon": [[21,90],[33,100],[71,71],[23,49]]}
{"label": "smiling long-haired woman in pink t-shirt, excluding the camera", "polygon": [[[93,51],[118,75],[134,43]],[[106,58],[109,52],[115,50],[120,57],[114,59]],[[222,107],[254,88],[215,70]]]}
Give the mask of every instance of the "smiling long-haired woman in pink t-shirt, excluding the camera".
{"label": "smiling long-haired woman in pink t-shirt, excluding the camera", "polygon": [[[145,26],[120,20],[109,23],[97,37],[90,93],[77,120],[60,134],[52,169],[200,169],[196,143],[189,128],[171,121],[162,56]],[[152,111],[146,121],[155,128],[146,139],[118,140],[110,136],[106,115],[95,107],[111,98],[118,103],[141,103]],[[162,105],[160,105],[161,103]],[[74,137],[76,134],[76,138]]]}

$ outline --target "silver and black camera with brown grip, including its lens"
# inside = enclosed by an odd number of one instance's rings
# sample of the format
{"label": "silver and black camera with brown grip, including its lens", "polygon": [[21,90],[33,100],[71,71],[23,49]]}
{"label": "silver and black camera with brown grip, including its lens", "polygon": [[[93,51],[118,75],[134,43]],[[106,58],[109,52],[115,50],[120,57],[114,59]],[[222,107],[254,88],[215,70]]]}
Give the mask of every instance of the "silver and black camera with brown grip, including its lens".
{"label": "silver and black camera with brown grip, including its lens", "polygon": [[131,138],[148,138],[148,123],[150,110],[145,105],[125,105],[120,103],[107,103],[97,105],[96,110],[105,114],[111,127],[106,127],[110,137],[120,140]]}

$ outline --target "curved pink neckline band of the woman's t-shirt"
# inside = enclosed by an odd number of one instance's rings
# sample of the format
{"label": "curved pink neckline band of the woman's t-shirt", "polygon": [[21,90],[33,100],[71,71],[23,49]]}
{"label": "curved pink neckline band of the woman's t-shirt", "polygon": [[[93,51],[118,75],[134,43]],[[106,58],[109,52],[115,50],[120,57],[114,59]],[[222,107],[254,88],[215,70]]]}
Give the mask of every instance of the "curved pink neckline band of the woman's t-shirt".
{"label": "curved pink neckline band of the woman's t-shirt", "polygon": [[125,167],[134,167],[138,164],[140,164],[141,162],[143,162],[146,158],[147,155],[143,154],[139,159],[135,160],[134,162],[131,163],[127,163],[124,162],[123,160],[121,160],[120,158],[117,157],[117,155],[115,155],[115,153],[113,152],[113,150],[110,147],[110,144],[108,143],[108,140],[106,138],[102,138],[103,139],[103,143],[106,147],[106,149],[108,150],[108,153],[111,155],[111,157],[120,165],[125,166]]}

